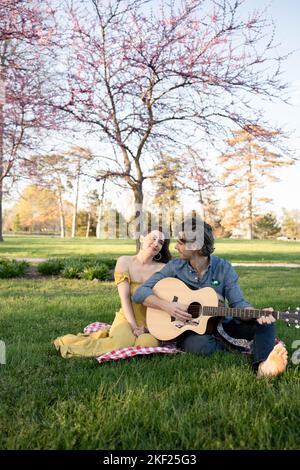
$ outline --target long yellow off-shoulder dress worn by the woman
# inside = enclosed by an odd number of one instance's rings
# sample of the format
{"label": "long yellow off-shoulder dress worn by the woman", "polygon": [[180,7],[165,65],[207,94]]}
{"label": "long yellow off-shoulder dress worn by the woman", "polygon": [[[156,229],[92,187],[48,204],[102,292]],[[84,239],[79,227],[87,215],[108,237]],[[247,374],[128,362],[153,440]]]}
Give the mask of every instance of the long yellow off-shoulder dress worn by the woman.
{"label": "long yellow off-shoulder dress worn by the woman", "polygon": [[[140,286],[139,282],[130,279],[127,272],[115,272],[115,282],[128,281],[130,293]],[[146,307],[142,304],[132,303],[138,326],[146,326]],[[56,338],[54,345],[60,350],[62,357],[96,357],[115,349],[132,346],[159,346],[159,341],[150,333],[135,336],[121,308],[115,316],[110,329],[94,333],[79,333],[78,335],[65,335]]]}

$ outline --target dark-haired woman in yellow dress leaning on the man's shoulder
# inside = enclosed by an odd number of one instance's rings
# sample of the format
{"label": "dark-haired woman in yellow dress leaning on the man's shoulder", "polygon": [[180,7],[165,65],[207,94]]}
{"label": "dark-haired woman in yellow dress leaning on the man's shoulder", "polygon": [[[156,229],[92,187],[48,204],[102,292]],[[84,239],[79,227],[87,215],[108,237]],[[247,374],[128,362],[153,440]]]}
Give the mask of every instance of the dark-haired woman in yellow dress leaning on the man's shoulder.
{"label": "dark-haired woman in yellow dress leaning on the man's shoulder", "polygon": [[131,346],[158,346],[159,342],[146,327],[146,308],[131,301],[133,292],[152,274],[160,271],[171,259],[170,240],[159,230],[145,232],[140,237],[137,255],[121,256],[115,267],[115,282],[121,300],[109,330],[91,334],[66,335],[54,345],[63,357],[96,357],[115,349]]}

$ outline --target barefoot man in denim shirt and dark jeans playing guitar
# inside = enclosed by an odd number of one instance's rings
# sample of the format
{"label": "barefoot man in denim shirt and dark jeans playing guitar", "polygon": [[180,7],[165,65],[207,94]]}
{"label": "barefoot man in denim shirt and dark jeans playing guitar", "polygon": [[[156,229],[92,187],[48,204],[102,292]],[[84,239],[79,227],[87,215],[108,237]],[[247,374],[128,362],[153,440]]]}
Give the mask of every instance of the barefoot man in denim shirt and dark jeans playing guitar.
{"label": "barefoot man in denim shirt and dark jeans playing guitar", "polygon": [[[190,320],[187,305],[168,302],[153,294],[152,288],[159,280],[174,277],[192,289],[213,287],[219,297],[227,299],[229,307],[252,308],[243,297],[238,276],[231,264],[212,256],[214,237],[211,226],[198,218],[191,218],[181,228],[175,246],[180,259],[169,261],[161,271],[144,282],[135,291],[133,302],[163,310],[183,322]],[[253,367],[258,376],[273,377],[283,373],[287,367],[287,350],[281,343],[275,345],[274,322],[272,315],[250,321],[227,317],[219,323],[213,335],[198,335],[192,331],[183,333],[178,346],[184,351],[207,355],[228,349],[229,342],[234,344],[233,347],[241,348],[246,339],[253,342]]]}

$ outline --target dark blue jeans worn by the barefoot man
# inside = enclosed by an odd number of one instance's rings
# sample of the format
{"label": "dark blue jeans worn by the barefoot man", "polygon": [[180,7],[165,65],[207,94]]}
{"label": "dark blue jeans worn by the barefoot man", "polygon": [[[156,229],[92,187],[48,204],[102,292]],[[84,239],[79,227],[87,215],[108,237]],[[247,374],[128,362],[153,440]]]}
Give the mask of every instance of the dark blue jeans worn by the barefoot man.
{"label": "dark blue jeans worn by the barefoot man", "polygon": [[[260,325],[256,320],[243,321],[234,318],[223,324],[224,330],[233,338],[253,340],[253,367],[258,368],[265,361],[275,345],[275,325]],[[225,342],[212,335],[184,333],[178,340],[178,346],[187,352],[208,355],[215,351],[227,350]]]}

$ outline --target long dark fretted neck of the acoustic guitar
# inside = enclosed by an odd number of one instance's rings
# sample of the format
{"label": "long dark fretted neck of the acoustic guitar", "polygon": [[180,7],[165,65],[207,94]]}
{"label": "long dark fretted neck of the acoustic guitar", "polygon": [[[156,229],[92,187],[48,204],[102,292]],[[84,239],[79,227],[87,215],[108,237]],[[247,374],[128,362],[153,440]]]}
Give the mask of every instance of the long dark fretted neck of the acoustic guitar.
{"label": "long dark fretted neck of the acoustic guitar", "polygon": [[201,312],[203,315],[209,317],[239,317],[239,318],[259,318],[263,315],[272,314],[276,320],[285,319],[288,317],[289,312],[268,311],[259,309],[245,309],[245,308],[229,308],[229,307],[202,307]]}

